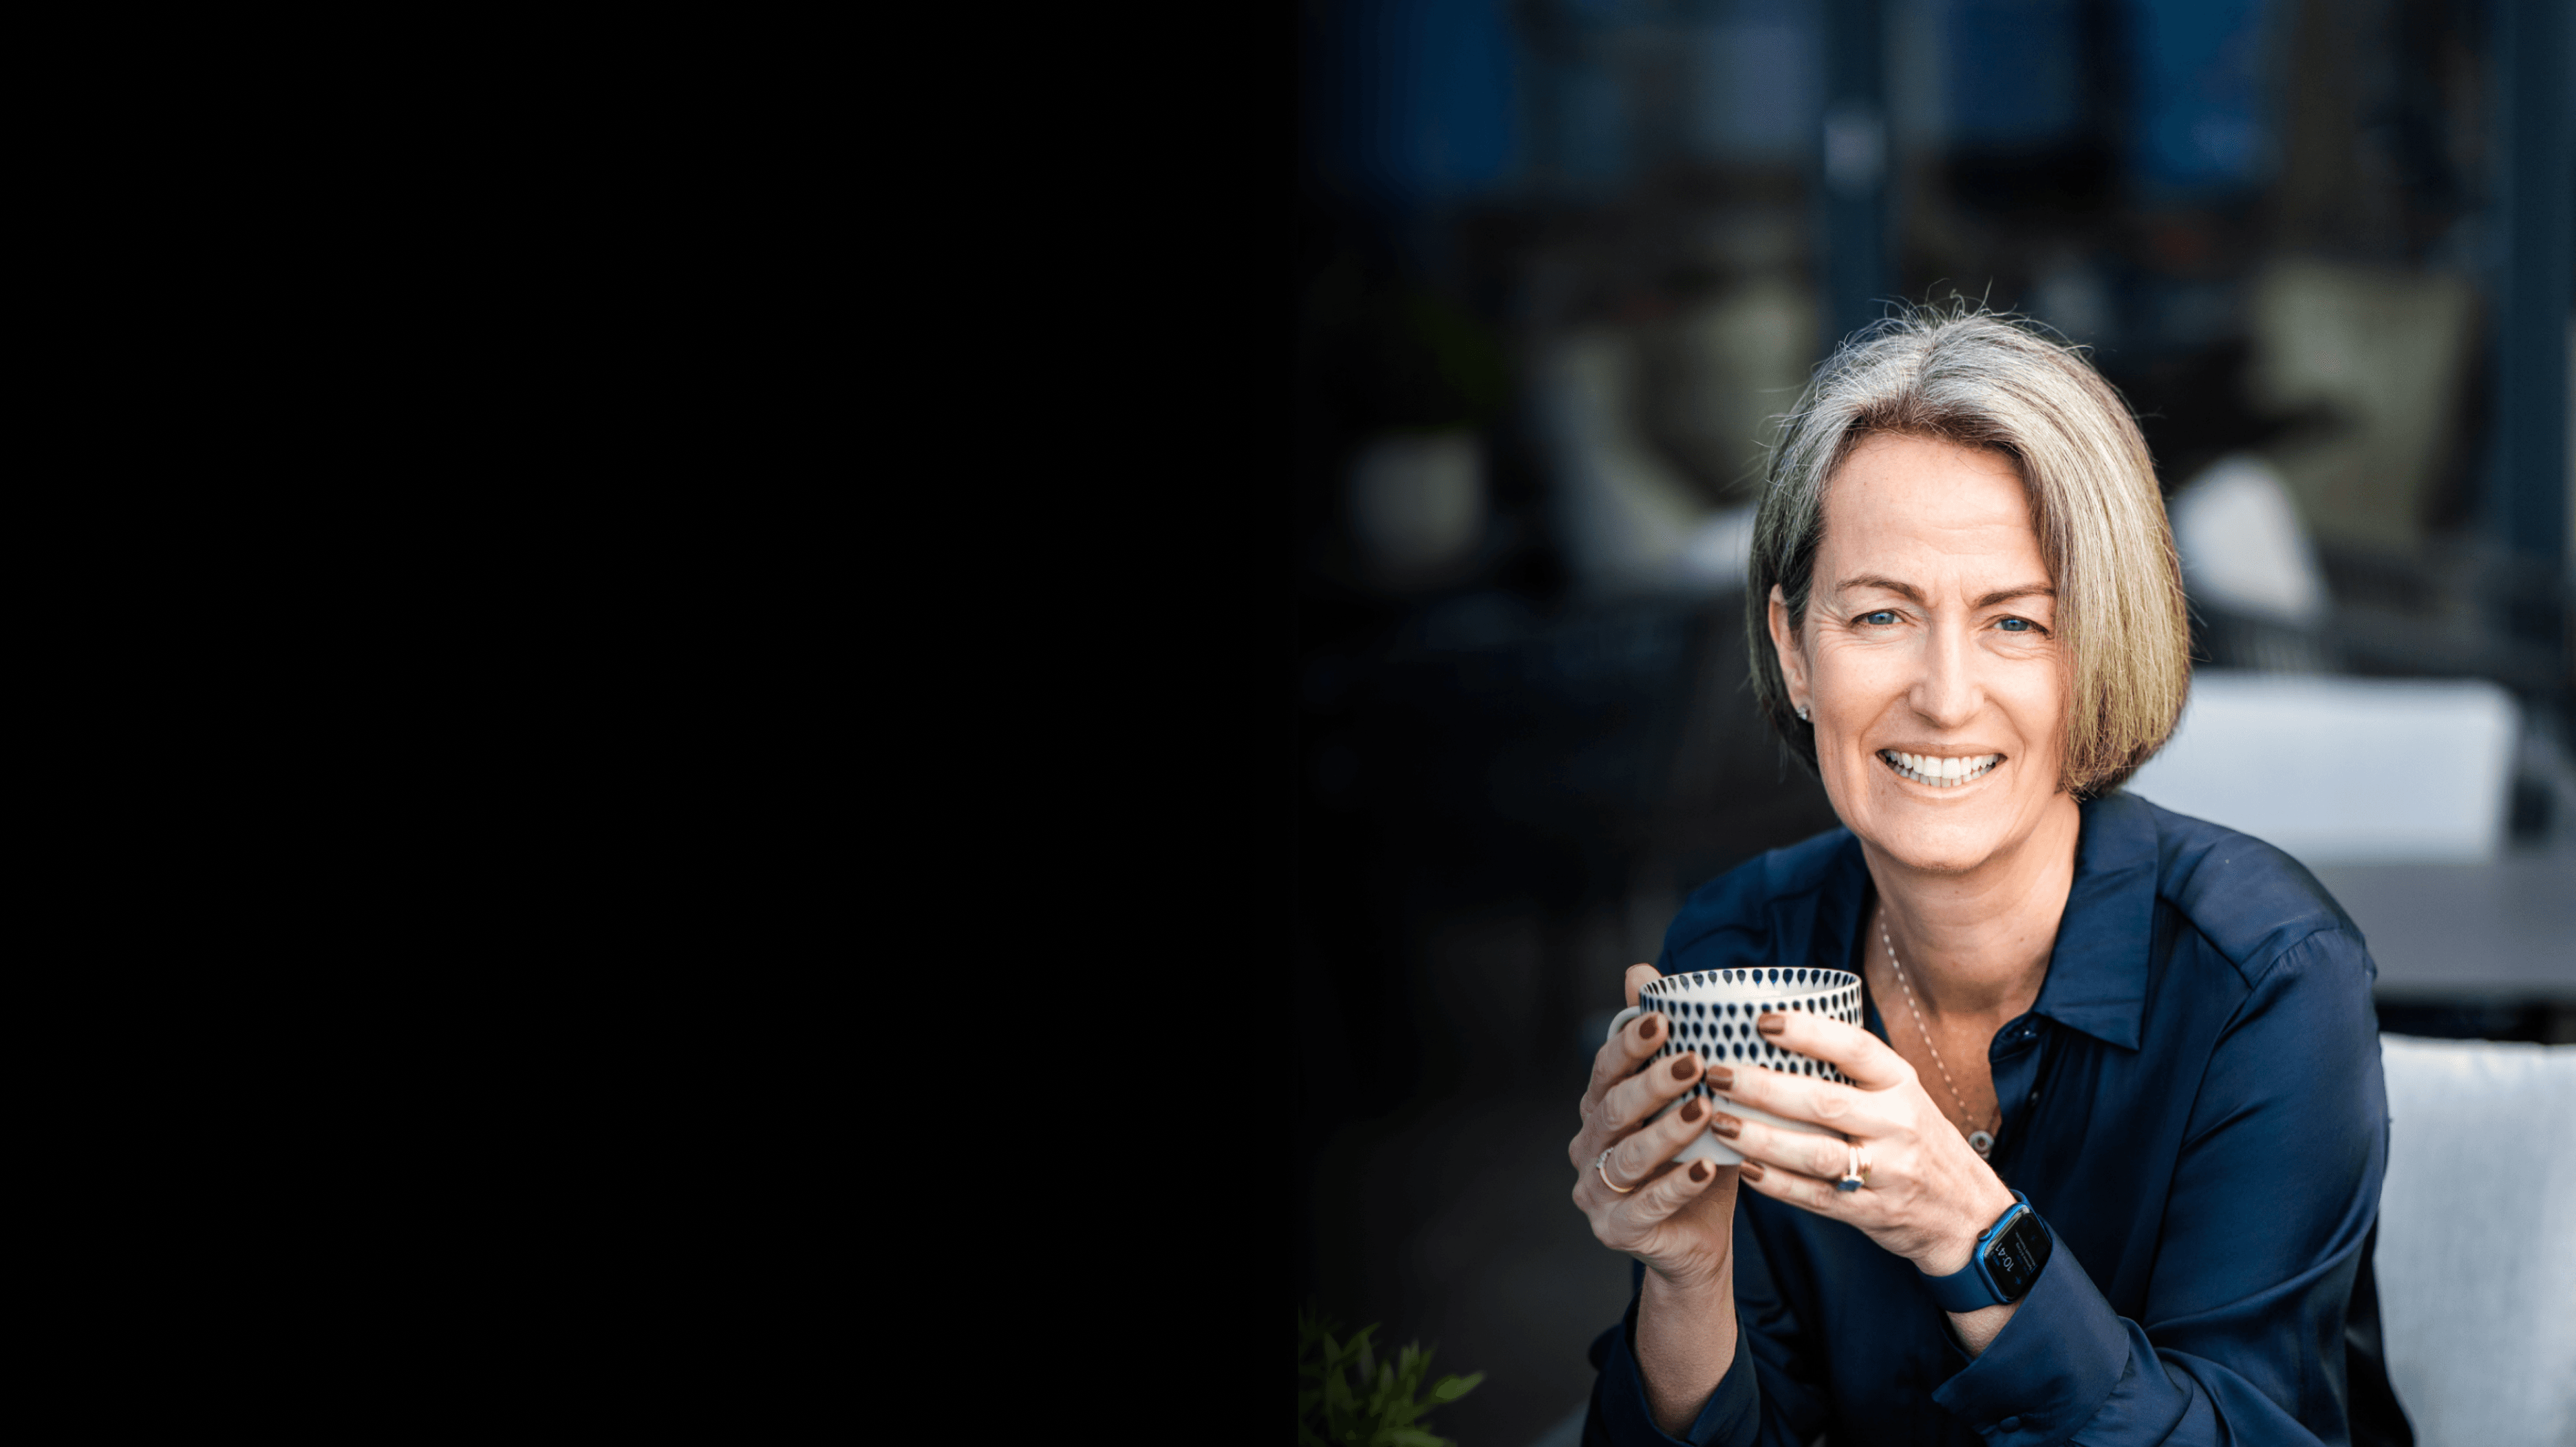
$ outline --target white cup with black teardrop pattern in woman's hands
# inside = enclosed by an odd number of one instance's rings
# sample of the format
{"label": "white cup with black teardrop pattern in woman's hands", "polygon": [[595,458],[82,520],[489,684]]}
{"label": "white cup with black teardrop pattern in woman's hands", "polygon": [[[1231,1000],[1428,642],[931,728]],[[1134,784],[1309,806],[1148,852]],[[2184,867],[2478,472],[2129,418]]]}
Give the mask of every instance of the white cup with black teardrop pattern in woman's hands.
{"label": "white cup with black teardrop pattern in woman's hands", "polygon": [[[1803,1009],[1808,1014],[1860,1027],[1860,976],[1852,971],[1759,968],[1664,976],[1641,989],[1638,1002],[1620,1009],[1618,1017],[1610,1020],[1610,1035],[1615,1038],[1631,1020],[1646,1014],[1649,1009],[1659,1012],[1664,1022],[1672,1025],[1672,1032],[1664,1035],[1664,1048],[1654,1053],[1656,1061],[1698,1050],[1700,1061],[1710,1066],[1767,1066],[1775,1071],[1850,1084],[1850,1076],[1837,1071],[1829,1061],[1814,1061],[1775,1045],[1754,1030],[1754,1020],[1770,1012]],[[1680,1105],[1690,1097],[1700,1097],[1739,1120],[1759,1120],[1762,1125],[1777,1125],[1780,1130],[1839,1138],[1839,1133],[1826,1130],[1824,1125],[1780,1120],[1767,1110],[1736,1105],[1734,1099],[1708,1089],[1705,1079],[1677,1094],[1664,1110],[1680,1110]],[[1662,1120],[1664,1110],[1654,1112],[1654,1117]],[[1744,1161],[1744,1153],[1728,1146],[1721,1135],[1700,1130],[1690,1138],[1690,1146],[1674,1151],[1672,1159],[1734,1166]]]}

